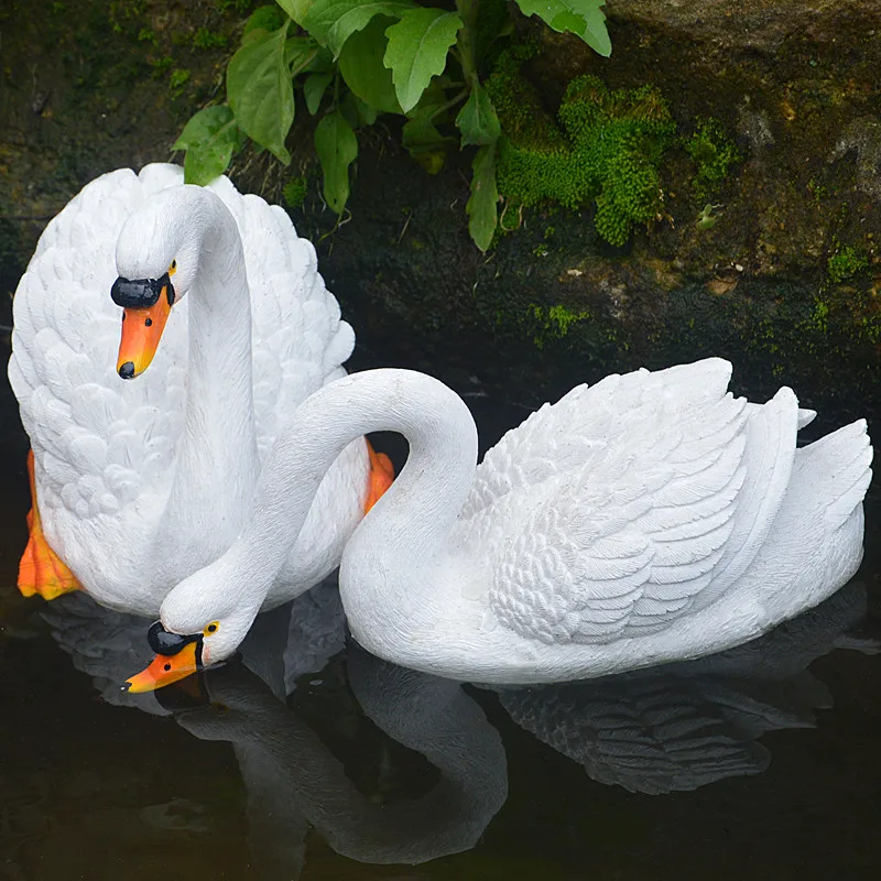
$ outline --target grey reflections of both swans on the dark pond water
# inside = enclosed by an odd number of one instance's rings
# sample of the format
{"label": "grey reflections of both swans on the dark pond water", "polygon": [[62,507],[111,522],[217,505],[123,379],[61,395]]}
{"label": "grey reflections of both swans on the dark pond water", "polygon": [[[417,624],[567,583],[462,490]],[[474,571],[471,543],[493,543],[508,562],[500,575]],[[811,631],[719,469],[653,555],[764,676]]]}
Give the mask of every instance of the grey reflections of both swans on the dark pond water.
{"label": "grey reflections of both swans on the dark pond water", "polygon": [[[864,587],[852,584],[725,653],[605,679],[494,690],[516,725],[598,782],[646,794],[695,790],[763,771],[771,759],[759,742],[764,732],[815,726],[815,710],[833,701],[806,667],[837,648],[878,651],[875,641],[848,634],[866,605]],[[260,878],[296,877],[312,827],[338,853],[362,862],[412,864],[467,850],[507,798],[504,748],[478,703],[492,700],[489,692],[465,690],[349,644],[346,678],[361,711],[439,772],[427,793],[385,804],[361,794],[344,763],[292,711],[287,698],[301,676],[320,681],[317,671],[339,666],[338,660],[328,665],[345,644],[331,586],[261,616],[241,662],[203,674],[210,703],[195,707],[185,698],[193,692],[187,681],[144,695],[119,689],[132,663],[143,660],[143,619],[101,609],[85,595],[54,602],[44,617],[105,699],[172,714],[195,737],[232,744]],[[159,703],[175,694],[171,704],[183,708]],[[335,706],[333,715],[338,711]]]}

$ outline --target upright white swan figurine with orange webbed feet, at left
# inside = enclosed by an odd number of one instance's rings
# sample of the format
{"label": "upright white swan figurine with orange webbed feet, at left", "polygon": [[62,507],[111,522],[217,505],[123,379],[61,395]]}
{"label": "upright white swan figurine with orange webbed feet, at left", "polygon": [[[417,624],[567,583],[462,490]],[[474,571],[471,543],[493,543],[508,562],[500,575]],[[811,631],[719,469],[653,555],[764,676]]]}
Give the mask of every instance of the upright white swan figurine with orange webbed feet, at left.
{"label": "upright white swan figurine with orange webbed feet, at left", "polygon": [[[19,284],[9,378],[35,500],[22,592],[81,585],[155,617],[239,533],[279,427],[345,376],[351,327],[285,213],[226,177],[182,184],[162,164],[93,181]],[[365,439],[339,453],[279,573],[287,597],[338,565],[376,492]]]}

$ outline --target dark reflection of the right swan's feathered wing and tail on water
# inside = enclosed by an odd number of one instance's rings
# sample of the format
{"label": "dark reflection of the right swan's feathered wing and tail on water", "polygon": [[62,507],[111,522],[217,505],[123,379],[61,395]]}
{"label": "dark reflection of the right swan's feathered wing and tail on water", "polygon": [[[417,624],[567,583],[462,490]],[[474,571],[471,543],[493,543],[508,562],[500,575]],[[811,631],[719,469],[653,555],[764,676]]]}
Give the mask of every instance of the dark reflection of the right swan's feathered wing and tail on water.
{"label": "dark reflection of the right swan's feathered wing and tail on water", "polygon": [[762,773],[766,731],[815,728],[828,688],[807,666],[836,649],[877,654],[851,637],[867,611],[850,584],[758,640],[697,661],[561,685],[501,689],[511,718],[599,783],[650,795]]}

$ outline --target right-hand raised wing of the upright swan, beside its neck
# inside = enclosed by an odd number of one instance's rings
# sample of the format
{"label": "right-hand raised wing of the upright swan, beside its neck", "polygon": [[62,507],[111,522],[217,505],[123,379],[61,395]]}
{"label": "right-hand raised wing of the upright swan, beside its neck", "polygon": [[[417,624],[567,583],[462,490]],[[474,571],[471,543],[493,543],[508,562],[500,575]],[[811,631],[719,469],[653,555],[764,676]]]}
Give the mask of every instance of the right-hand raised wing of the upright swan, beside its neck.
{"label": "right-hand raised wing of the upright swan, beside its neck", "polygon": [[318,273],[315,248],[287,214],[241,195],[226,177],[213,189],[232,211],[251,290],[254,420],[261,459],[296,407],[344,376],[355,347],[351,326]]}

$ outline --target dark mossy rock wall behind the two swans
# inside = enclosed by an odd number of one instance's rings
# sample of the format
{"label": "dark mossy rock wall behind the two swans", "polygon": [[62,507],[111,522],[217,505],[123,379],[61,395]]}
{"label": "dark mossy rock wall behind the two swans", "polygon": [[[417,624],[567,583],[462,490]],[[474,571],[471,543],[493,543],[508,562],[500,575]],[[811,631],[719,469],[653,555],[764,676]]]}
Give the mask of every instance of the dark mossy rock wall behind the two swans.
{"label": "dark mossy rock wall behind the two swans", "polygon": [[[196,34],[232,46],[241,17],[208,6],[29,0],[0,14],[6,291],[47,216],[101,171],[167,159],[221,87],[229,50]],[[483,255],[467,235],[469,157],[429,177],[377,128],[348,221],[335,229],[315,177],[294,215],[358,330],[357,363],[422,367],[533,405],[610,370],[718,354],[751,394],[788,382],[829,421],[878,415],[881,0],[609,0],[607,12],[609,59],[521,19],[543,41],[524,75],[552,112],[591,73],[611,88],[656,85],[683,135],[718,119],[742,161],[711,197],[714,222],[699,222],[707,199],[679,144],[662,167],[663,210],[624,248],[598,239],[589,206],[551,206]],[[237,183],[265,192],[261,161],[247,165]],[[269,171],[279,185],[289,174]]]}

